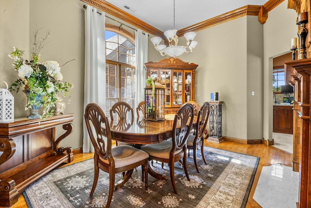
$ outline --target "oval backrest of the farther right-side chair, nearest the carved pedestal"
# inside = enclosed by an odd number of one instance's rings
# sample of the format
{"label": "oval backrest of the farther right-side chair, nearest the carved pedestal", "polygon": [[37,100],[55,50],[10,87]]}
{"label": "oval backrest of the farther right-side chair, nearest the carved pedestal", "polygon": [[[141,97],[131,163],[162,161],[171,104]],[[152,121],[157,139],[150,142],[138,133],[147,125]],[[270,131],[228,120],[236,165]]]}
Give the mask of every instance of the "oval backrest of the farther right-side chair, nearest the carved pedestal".
{"label": "oval backrest of the farther right-side chair, nearest the carved pedestal", "polygon": [[206,129],[207,126],[207,122],[208,122],[208,116],[209,116],[209,103],[205,102],[201,108],[200,111],[198,113],[198,117],[197,117],[197,123],[195,126],[196,132],[198,134],[198,136],[196,138],[202,138],[204,131]]}

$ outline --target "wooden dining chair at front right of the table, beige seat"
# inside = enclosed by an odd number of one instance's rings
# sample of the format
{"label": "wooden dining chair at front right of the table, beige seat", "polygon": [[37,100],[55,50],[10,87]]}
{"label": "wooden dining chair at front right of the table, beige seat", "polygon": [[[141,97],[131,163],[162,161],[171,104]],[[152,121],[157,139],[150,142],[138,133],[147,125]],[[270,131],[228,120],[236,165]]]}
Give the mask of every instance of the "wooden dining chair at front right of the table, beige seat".
{"label": "wooden dining chair at front right of the table, beige seat", "polygon": [[168,163],[170,167],[171,182],[174,192],[177,193],[174,176],[174,163],[183,159],[183,167],[186,177],[190,181],[187,170],[187,138],[193,123],[193,106],[190,103],[183,104],[175,114],[173,121],[172,141],[163,141],[156,144],[145,145],[141,148],[149,154],[149,160]]}

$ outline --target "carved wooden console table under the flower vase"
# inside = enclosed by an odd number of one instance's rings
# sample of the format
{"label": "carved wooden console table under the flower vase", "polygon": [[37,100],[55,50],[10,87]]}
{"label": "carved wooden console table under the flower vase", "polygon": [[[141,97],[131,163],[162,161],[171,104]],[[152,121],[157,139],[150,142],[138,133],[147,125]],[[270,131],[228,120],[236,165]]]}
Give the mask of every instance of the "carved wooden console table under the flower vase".
{"label": "carved wooden console table under the flower vase", "polygon": [[[71,148],[58,147],[72,132],[72,121],[73,114],[63,114],[0,123],[0,207],[12,206],[28,185],[73,160]],[[60,125],[66,132],[55,140]]]}

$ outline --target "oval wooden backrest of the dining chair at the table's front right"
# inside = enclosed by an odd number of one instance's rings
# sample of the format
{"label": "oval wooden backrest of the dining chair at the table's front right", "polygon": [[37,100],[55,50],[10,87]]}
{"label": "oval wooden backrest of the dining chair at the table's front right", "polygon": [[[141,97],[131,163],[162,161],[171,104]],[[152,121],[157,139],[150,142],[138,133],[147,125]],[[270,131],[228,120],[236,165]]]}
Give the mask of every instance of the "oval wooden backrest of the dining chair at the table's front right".
{"label": "oval wooden backrest of the dining chair at the table's front right", "polygon": [[193,106],[190,103],[183,104],[175,114],[173,121],[173,148],[172,152],[184,148],[187,139],[192,129],[193,123]]}

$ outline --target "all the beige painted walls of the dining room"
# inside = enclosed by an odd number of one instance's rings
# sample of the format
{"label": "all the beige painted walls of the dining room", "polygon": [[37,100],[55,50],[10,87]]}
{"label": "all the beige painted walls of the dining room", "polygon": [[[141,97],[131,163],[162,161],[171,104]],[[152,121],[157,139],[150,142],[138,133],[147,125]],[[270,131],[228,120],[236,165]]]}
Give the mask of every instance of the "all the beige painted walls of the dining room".
{"label": "all the beige painted walls of the dining room", "polygon": [[[83,4],[80,0],[11,0],[1,2],[5,12],[0,13],[0,80],[11,84],[17,78],[7,55],[13,46],[28,52],[36,26],[42,27],[42,31],[51,31],[49,42],[42,50],[41,61],[49,59],[62,64],[77,58],[62,68],[64,80],[74,84],[65,113],[74,113],[75,120],[73,133],[61,145],[73,149],[82,147],[83,135]],[[296,37],[295,20],[294,10],[288,10],[287,1],[284,1],[269,12],[264,25],[256,16],[247,16],[197,32],[195,39],[198,45],[194,52],[180,57],[199,65],[196,70],[196,101],[203,104],[214,91],[224,101],[224,136],[272,138],[272,105],[268,105],[273,103],[271,60],[289,51],[291,38]],[[113,21],[109,23],[113,24]],[[149,38],[152,37],[150,35]],[[185,44],[183,39],[180,38],[181,44]],[[162,59],[152,43],[149,41],[148,44],[148,61]],[[255,96],[250,96],[252,90]],[[23,111],[26,97],[22,93],[14,96],[15,117],[26,116],[28,113]],[[56,133],[61,132],[57,130]]]}

